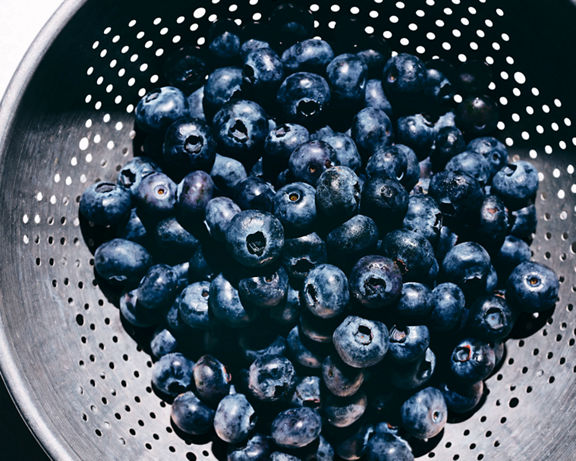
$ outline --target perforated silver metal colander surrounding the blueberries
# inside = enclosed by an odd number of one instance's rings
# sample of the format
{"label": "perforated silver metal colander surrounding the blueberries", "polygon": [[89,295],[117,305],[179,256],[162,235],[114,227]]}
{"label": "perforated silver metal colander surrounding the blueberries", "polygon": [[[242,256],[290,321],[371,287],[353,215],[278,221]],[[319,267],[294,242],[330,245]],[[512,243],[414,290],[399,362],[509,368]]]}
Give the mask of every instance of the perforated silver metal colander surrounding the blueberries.
{"label": "perforated silver metal colander surrounding the blueberries", "polygon": [[[507,342],[484,405],[448,424],[421,456],[574,459],[574,105],[538,69],[516,62],[529,52],[510,30],[519,27],[507,16],[514,2],[336,1],[306,4],[320,36],[354,16],[398,52],[493,66],[499,137],[512,158],[540,171],[534,259],[561,281],[553,316],[533,319],[525,337]],[[150,387],[151,358],[97,286],[78,201],[132,156],[134,107],[162,82],[164,53],[202,44],[217,18],[258,20],[263,3],[71,0],[12,82],[0,112],[0,359],[25,420],[55,459],[216,459],[210,440],[184,441],[171,428],[169,405]],[[548,78],[561,80],[557,72]]]}

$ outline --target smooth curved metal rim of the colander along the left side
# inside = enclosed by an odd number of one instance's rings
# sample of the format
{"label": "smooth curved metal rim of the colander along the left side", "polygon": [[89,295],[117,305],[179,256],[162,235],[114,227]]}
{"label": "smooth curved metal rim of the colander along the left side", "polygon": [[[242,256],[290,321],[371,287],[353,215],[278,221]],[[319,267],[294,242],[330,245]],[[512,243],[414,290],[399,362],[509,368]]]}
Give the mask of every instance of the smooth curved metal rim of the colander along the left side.
{"label": "smooth curved metal rim of the colander along the left side", "polygon": [[[12,131],[15,108],[20,104],[24,90],[28,86],[35,69],[62,30],[62,27],[68,23],[86,2],[87,0],[65,0],[40,30],[18,65],[4,98],[0,102],[0,126],[4,127],[0,131],[0,159],[4,155],[9,140],[9,133]],[[0,291],[0,306],[2,302],[3,296]],[[26,381],[14,361],[5,328],[6,325],[2,323],[2,318],[0,317],[0,372],[22,419],[50,458],[58,461],[77,460],[78,456],[74,456],[71,453],[70,447],[67,447],[60,437],[51,432],[37,403],[30,399]]]}

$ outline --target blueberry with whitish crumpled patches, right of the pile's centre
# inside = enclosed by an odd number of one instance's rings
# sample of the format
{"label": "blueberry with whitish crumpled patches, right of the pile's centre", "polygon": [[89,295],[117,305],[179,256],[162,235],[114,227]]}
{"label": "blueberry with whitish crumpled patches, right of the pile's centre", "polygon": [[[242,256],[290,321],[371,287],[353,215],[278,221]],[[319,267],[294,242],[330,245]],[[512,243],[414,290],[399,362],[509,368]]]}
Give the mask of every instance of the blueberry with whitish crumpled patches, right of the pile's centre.
{"label": "blueberry with whitish crumpled patches, right of the pile's centre", "polygon": [[432,197],[414,194],[408,200],[408,209],[402,225],[405,229],[417,232],[435,244],[442,229],[442,212]]}

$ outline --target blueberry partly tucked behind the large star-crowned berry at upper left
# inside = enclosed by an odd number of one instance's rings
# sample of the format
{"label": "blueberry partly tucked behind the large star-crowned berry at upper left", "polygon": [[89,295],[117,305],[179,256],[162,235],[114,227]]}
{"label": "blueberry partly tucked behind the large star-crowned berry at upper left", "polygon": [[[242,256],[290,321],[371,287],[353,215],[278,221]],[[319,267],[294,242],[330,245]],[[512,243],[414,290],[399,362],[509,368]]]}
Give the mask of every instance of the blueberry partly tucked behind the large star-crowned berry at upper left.
{"label": "blueberry partly tucked behind the large star-crowned berry at upper left", "polygon": [[204,85],[203,105],[208,121],[212,121],[224,104],[240,97],[243,80],[239,67],[220,67],[212,71]]}

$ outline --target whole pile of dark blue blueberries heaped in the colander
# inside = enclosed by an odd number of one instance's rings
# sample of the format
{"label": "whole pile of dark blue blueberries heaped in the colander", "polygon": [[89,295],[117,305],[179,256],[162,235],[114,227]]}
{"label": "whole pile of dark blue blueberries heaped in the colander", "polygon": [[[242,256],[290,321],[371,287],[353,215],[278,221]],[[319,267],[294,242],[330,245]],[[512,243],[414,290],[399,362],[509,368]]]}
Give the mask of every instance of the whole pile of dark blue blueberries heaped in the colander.
{"label": "whole pile of dark blue blueberries heaped in the colander", "polygon": [[183,437],[230,461],[412,460],[554,308],[538,173],[490,136],[482,65],[331,44],[309,17],[174,50],[137,155],[80,215]]}

